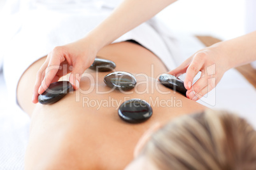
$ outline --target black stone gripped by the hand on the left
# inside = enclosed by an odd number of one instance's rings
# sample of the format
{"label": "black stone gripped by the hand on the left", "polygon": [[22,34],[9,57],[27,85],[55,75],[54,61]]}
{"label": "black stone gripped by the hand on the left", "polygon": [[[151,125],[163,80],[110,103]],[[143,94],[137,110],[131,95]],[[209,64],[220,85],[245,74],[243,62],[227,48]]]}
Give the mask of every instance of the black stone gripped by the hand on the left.
{"label": "black stone gripped by the hand on the left", "polygon": [[50,105],[62,99],[69,93],[69,91],[73,91],[73,87],[70,82],[53,82],[43,94],[38,96],[38,101],[43,105]]}

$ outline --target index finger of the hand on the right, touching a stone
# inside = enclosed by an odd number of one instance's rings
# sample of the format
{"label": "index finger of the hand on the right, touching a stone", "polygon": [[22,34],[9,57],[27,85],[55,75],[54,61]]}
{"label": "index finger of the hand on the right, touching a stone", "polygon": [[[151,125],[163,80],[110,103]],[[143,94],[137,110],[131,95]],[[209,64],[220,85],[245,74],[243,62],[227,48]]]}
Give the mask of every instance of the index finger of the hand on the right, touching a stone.
{"label": "index finger of the hand on the right, touching a stone", "polygon": [[188,66],[185,81],[184,81],[184,86],[186,89],[190,89],[192,87],[194,77],[202,69],[204,65],[203,57],[204,56],[201,55],[201,53],[196,54],[194,57],[194,60],[192,60],[192,62]]}

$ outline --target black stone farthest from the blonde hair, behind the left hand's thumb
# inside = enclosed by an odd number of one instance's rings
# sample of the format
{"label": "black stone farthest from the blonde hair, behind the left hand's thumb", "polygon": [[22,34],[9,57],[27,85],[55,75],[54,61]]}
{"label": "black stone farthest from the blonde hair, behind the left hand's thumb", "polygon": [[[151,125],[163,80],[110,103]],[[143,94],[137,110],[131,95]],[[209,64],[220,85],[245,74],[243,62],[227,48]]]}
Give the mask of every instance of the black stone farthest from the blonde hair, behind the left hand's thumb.
{"label": "black stone farthest from the blonde hair, behind the left hand's thumb", "polygon": [[89,67],[89,69],[96,70],[99,72],[109,72],[115,69],[116,65],[110,60],[105,60],[102,58],[95,58],[94,63]]}

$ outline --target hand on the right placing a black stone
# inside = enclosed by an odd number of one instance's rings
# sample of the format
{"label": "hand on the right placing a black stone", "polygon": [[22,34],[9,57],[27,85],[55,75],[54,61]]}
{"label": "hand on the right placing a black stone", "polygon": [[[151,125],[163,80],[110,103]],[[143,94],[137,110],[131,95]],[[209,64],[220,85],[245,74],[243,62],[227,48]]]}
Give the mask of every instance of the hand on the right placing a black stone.
{"label": "hand on the right placing a black stone", "polygon": [[[199,100],[215,88],[229,69],[227,57],[224,54],[217,45],[201,49],[168,74],[178,77],[186,73],[184,86],[187,89],[187,98]],[[193,84],[198,72],[201,72],[201,77]]]}

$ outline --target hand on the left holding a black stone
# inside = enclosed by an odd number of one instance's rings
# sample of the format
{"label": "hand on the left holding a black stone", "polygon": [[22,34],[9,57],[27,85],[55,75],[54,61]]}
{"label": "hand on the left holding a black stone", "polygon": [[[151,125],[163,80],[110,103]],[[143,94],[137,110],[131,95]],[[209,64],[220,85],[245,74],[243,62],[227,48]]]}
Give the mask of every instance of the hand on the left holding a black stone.
{"label": "hand on the left holding a black stone", "polygon": [[32,102],[38,103],[39,94],[42,94],[52,82],[58,81],[70,72],[69,82],[74,89],[78,89],[81,76],[94,62],[96,53],[94,46],[85,39],[55,47],[38,70]]}

